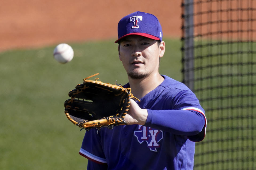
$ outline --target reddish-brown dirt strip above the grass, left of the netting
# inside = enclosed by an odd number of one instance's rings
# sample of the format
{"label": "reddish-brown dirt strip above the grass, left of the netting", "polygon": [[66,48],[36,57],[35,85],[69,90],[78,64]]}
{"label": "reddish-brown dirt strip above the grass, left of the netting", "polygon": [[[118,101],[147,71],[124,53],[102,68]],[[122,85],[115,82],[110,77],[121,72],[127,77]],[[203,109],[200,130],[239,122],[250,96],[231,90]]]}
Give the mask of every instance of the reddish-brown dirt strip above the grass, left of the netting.
{"label": "reddish-brown dirt strip above the grass, left of the netting", "polygon": [[163,37],[181,37],[181,1],[9,0],[0,6],[0,51],[117,38],[117,23],[143,11],[156,15]]}

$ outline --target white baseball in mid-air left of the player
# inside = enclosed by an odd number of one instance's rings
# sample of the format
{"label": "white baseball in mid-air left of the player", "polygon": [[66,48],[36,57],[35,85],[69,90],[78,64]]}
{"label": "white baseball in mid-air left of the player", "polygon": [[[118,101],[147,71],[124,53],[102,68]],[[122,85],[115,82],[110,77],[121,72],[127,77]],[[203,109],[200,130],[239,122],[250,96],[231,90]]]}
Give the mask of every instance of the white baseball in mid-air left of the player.
{"label": "white baseball in mid-air left of the player", "polygon": [[55,47],[53,56],[58,62],[67,63],[73,59],[74,50],[70,45],[62,43]]}

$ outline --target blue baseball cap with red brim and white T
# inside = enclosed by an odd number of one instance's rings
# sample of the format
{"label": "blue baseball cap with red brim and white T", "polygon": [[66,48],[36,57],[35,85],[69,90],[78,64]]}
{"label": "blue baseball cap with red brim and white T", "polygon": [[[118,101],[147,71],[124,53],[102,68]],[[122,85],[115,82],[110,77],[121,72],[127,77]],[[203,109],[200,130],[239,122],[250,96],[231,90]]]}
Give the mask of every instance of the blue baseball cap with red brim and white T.
{"label": "blue baseball cap with red brim and white T", "polygon": [[123,17],[117,27],[118,43],[128,35],[140,35],[154,40],[162,41],[163,32],[156,16],[145,12],[133,12]]}

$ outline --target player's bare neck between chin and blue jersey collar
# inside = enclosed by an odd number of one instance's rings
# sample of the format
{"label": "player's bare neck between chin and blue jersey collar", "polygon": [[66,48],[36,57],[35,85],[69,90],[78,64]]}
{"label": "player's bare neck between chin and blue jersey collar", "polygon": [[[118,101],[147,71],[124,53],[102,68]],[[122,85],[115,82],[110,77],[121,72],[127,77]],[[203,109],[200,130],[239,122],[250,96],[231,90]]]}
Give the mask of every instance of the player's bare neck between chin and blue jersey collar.
{"label": "player's bare neck between chin and blue jersey collar", "polygon": [[148,76],[144,79],[131,79],[129,77],[131,93],[138,99],[141,99],[150,91],[159,86],[163,80],[164,78],[159,73]]}

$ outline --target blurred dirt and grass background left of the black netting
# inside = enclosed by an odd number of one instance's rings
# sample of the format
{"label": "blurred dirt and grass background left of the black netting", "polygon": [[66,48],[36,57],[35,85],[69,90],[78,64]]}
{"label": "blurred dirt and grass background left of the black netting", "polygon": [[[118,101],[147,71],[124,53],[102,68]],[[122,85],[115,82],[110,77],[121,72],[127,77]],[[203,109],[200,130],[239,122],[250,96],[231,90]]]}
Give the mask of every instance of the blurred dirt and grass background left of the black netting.
{"label": "blurred dirt and grass background left of the black netting", "polygon": [[[127,83],[118,59],[117,23],[132,12],[156,15],[165,56],[160,73],[182,80],[180,1],[9,0],[0,3],[0,169],[86,169],[78,154],[85,131],[64,114],[68,92],[100,73]],[[57,44],[74,49],[71,62],[53,58]]]}

